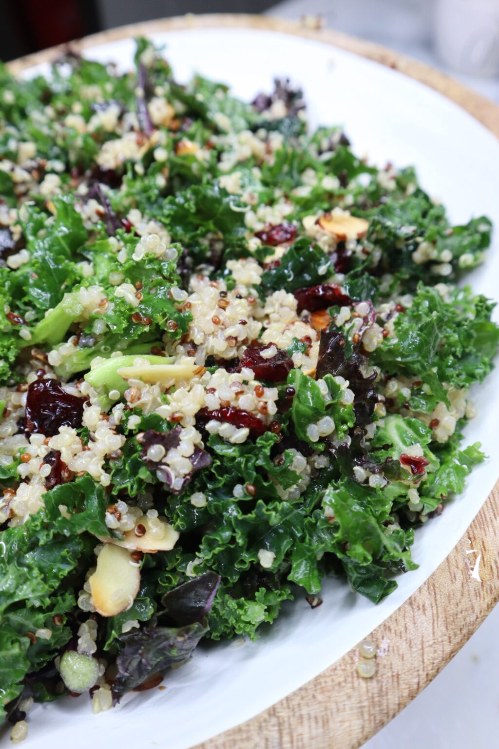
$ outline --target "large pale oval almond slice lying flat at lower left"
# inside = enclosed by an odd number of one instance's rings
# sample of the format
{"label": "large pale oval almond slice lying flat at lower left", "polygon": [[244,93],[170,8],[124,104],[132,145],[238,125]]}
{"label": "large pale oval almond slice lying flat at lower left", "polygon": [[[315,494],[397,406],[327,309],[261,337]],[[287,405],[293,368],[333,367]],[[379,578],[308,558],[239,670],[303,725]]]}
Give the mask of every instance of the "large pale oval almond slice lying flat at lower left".
{"label": "large pale oval almond slice lying flat at lower left", "polygon": [[116,616],[135,601],[141,573],[129,551],[107,544],[97,557],[97,569],[88,582],[94,609],[101,616]]}

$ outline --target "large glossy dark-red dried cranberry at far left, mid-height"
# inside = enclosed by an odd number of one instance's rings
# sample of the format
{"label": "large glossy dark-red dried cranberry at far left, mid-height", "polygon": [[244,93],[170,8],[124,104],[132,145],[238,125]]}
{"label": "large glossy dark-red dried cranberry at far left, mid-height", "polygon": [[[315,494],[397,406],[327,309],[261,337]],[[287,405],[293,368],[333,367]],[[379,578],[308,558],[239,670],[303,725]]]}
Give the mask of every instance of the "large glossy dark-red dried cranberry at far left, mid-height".
{"label": "large glossy dark-red dried cranberry at far left, mid-height", "polygon": [[28,434],[57,434],[61,426],[82,426],[86,398],[70,395],[57,380],[37,380],[28,387],[24,428]]}

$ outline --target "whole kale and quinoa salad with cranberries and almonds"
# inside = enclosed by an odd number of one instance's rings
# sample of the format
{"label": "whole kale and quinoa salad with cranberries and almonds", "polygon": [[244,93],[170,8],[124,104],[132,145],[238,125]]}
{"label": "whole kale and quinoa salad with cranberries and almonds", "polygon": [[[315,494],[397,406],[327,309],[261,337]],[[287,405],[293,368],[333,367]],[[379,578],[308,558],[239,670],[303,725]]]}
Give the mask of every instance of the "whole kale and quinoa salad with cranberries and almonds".
{"label": "whole kale and quinoa salad with cranberries and almonds", "polygon": [[[339,115],[341,113],[339,112]],[[493,303],[450,225],[302,92],[67,52],[0,67],[0,722],[152,688],[325,575],[374,603],[485,458]],[[416,531],[417,532],[417,531]],[[334,622],[331,622],[334,631]],[[167,682],[168,683],[168,682]]]}

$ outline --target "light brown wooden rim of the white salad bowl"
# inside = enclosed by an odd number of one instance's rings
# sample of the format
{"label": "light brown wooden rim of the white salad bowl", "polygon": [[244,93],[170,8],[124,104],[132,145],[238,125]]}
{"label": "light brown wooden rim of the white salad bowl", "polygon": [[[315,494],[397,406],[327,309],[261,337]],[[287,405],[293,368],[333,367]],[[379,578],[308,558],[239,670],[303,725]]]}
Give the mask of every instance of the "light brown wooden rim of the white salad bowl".
{"label": "light brown wooden rim of the white salad bowl", "polygon": [[[499,137],[499,107],[494,103],[423,63],[331,29],[264,16],[182,16],[103,31],[72,46],[85,49],[186,28],[264,29],[346,49],[434,88]],[[13,61],[10,70],[19,73],[50,61],[62,49]],[[499,481],[447,559],[370,635],[381,646],[373,679],[358,676],[355,647],[251,721],[193,749],[355,749],[364,744],[437,676],[499,601],[498,530]]]}

